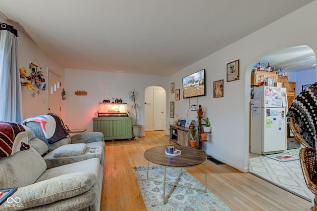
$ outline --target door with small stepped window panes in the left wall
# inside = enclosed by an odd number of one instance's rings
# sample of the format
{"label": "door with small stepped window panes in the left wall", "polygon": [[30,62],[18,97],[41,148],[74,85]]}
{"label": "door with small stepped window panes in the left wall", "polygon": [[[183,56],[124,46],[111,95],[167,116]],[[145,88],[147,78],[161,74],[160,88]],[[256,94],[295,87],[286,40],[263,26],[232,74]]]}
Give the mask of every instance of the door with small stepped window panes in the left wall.
{"label": "door with small stepped window panes in the left wall", "polygon": [[49,113],[60,116],[60,77],[49,71]]}

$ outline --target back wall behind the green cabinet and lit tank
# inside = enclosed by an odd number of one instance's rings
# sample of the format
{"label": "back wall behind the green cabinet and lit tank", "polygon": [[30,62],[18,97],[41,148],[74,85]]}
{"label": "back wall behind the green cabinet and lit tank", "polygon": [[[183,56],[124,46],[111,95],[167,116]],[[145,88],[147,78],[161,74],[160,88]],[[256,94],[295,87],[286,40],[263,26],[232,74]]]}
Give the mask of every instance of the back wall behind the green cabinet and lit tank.
{"label": "back wall behind the green cabinet and lit tank", "polygon": [[[139,124],[144,126],[146,87],[161,86],[165,90],[168,90],[169,87],[167,77],[75,69],[65,69],[65,81],[67,98],[64,100],[64,122],[71,128],[87,128],[87,131],[93,131],[92,118],[98,111],[98,103],[102,102],[104,98],[110,100],[112,97],[121,98],[123,103],[128,104],[127,109],[131,111],[131,102],[127,92],[134,87],[140,93]],[[88,94],[77,96],[74,94],[76,90],[85,90]],[[144,127],[142,127],[141,136],[144,136]]]}

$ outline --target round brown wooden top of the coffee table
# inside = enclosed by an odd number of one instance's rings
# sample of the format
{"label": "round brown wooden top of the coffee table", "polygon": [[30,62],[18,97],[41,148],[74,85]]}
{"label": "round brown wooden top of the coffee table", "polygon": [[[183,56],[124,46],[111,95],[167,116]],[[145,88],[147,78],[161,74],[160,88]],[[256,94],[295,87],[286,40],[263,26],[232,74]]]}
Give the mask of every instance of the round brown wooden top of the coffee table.
{"label": "round brown wooden top of the coffee table", "polygon": [[192,147],[174,146],[174,149],[178,149],[182,152],[178,156],[170,156],[165,154],[167,146],[163,145],[150,148],[144,152],[144,158],[151,163],[174,168],[186,168],[203,164],[207,160],[207,155]]}

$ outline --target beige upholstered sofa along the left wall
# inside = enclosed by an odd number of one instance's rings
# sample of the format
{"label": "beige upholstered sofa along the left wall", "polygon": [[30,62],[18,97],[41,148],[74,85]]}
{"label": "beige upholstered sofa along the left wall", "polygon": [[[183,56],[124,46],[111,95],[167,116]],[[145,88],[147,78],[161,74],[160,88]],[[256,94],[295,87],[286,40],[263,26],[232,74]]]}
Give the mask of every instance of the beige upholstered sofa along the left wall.
{"label": "beige upholstered sofa along the left wall", "polygon": [[[103,135],[82,133],[61,139],[52,146],[37,138],[26,124],[14,124],[21,127],[18,134],[26,133],[26,138],[20,139],[27,141],[22,142],[24,148],[13,153],[15,147],[12,146],[11,154],[0,157],[0,189],[17,187],[11,200],[2,202],[0,211],[99,211],[105,162]],[[0,130],[0,140],[1,137]],[[96,141],[100,139],[102,141]]]}

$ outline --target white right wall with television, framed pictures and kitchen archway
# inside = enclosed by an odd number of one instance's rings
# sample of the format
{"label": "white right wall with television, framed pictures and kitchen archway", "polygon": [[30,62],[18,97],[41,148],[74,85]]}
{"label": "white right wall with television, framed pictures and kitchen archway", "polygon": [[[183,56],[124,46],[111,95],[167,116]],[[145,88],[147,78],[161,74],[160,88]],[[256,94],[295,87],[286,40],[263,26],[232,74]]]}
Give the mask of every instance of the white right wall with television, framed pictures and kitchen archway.
{"label": "white right wall with television, framed pictures and kitchen archway", "polygon": [[[175,89],[181,79],[206,69],[207,96],[199,97],[204,116],[211,121],[212,134],[203,150],[243,172],[249,171],[249,103],[251,69],[263,56],[283,47],[306,44],[317,52],[317,1],[275,21],[261,30],[228,45],[170,77]],[[273,33],[278,32],[278,33]],[[226,82],[226,64],[240,59],[240,80]],[[224,97],[212,97],[212,84],[224,80]],[[173,98],[169,94],[169,98]],[[175,102],[175,113],[186,117],[189,100]],[[189,118],[195,115],[189,111]],[[168,122],[171,122],[169,119]]]}

